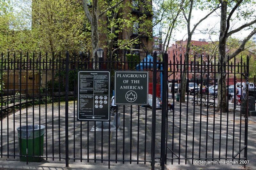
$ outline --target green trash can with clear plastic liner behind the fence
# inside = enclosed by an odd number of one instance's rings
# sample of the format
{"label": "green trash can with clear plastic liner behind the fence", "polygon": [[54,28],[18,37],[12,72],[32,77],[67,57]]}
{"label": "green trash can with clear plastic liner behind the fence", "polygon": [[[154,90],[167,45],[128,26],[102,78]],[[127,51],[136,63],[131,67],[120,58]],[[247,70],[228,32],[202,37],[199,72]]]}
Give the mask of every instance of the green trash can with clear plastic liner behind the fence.
{"label": "green trash can with clear plastic liner behind the fence", "polygon": [[[27,140],[27,127],[28,127],[28,140]],[[24,155],[24,156],[20,156],[20,161],[27,161],[27,158],[26,158],[27,154],[28,154],[28,162],[40,162],[41,160],[43,160],[43,158],[40,158],[37,156],[44,155],[45,126],[41,125],[41,128],[39,129],[39,125],[34,125],[34,154],[33,154],[33,125],[21,126],[21,128],[18,127],[17,131],[18,131],[18,138],[19,138],[20,155]],[[27,141],[28,141],[28,148],[27,148]],[[33,157],[33,155],[36,157]]]}

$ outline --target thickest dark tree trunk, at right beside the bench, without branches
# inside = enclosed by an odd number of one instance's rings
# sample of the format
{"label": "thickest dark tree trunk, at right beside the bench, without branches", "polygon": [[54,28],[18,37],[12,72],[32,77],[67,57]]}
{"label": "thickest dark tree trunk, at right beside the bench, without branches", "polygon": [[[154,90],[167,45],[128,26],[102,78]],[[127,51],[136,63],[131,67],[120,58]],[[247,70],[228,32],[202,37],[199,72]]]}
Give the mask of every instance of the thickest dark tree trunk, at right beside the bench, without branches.
{"label": "thickest dark tree trunk, at right beside the bench, without branches", "polygon": [[226,69],[224,67],[225,63],[227,63],[226,57],[226,41],[227,36],[225,35],[227,29],[227,5],[228,2],[222,1],[221,3],[221,14],[220,14],[220,38],[219,38],[219,63],[221,66],[219,67],[218,71],[222,72],[218,73],[218,105],[217,111],[227,112],[227,85],[226,85]]}

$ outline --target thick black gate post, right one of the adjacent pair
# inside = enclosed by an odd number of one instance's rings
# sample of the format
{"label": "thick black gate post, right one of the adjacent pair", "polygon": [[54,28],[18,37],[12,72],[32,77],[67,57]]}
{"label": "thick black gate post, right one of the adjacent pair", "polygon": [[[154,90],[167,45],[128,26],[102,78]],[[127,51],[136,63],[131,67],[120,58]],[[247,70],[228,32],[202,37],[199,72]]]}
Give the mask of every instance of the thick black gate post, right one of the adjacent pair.
{"label": "thick black gate post, right one of the adjacent pair", "polygon": [[165,133],[166,133],[166,106],[167,106],[167,70],[168,70],[168,55],[164,53],[164,76],[163,76],[163,100],[162,100],[162,140],[161,140],[161,169],[164,170],[165,161]]}

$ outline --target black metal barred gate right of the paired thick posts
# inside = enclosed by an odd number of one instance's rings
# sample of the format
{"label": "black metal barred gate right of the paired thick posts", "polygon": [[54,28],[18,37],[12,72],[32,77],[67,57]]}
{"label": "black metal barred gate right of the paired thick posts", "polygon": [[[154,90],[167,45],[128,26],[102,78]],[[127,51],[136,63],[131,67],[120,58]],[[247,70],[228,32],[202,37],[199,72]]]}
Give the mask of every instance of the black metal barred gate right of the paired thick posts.
{"label": "black metal barred gate right of the paired thick posts", "polygon": [[[209,56],[201,56],[198,59],[195,55],[187,64],[182,61],[184,58],[177,60],[176,57],[173,56],[168,64],[168,74],[164,71],[164,82],[169,79],[170,85],[169,93],[164,86],[163,102],[167,101],[165,106],[173,105],[171,111],[162,111],[162,131],[166,130],[161,138],[162,165],[238,161],[236,164],[245,166],[249,57],[245,63],[242,56],[239,59],[228,57],[224,62],[218,61],[215,56],[210,59]],[[164,56],[164,60],[167,60],[167,56]],[[187,75],[185,83],[181,79],[183,74]],[[184,85],[185,88],[182,88]],[[180,96],[182,102],[176,101],[178,93],[185,94],[183,99]],[[255,102],[254,97],[253,100]]]}

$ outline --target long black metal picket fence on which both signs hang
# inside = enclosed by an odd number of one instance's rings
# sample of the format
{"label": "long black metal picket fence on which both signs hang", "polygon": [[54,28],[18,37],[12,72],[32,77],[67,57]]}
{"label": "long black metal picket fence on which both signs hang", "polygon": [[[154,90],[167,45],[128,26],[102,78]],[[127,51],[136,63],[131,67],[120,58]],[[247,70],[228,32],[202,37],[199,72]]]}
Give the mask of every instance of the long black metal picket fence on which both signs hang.
{"label": "long black metal picket fence on which both signs hang", "polygon": [[[199,93],[191,93],[192,95],[187,93],[186,103],[178,103],[174,97],[171,99],[174,91],[168,92],[168,76],[177,73],[184,74],[181,71],[184,67],[182,61],[180,63],[167,62],[167,54],[164,54],[163,61],[160,58],[157,59],[156,53],[153,57],[139,57],[139,60],[133,60],[133,55],[126,58],[126,52],[124,52],[122,55],[116,55],[112,60],[106,58],[94,62],[90,54],[83,53],[67,52],[51,55],[48,53],[20,53],[19,55],[7,53],[4,55],[2,53],[1,158],[17,159],[22,156],[27,159],[27,162],[31,157],[45,158],[49,161],[58,159],[64,160],[66,166],[76,161],[89,162],[89,164],[102,163],[108,167],[110,163],[118,162],[146,165],[150,163],[152,169],[155,168],[156,162],[160,162],[164,168],[168,159],[171,159],[172,163],[176,160],[180,163],[185,159],[185,163],[192,161],[192,164],[197,159],[247,160],[248,110],[245,112],[245,119],[242,118],[242,107],[237,112],[236,100],[234,100],[232,111],[217,112],[218,101],[209,95],[209,78],[204,84],[208,90],[206,95],[201,93],[203,87],[200,86]],[[214,80],[219,75],[222,78],[224,74],[227,74],[227,79],[229,79],[231,74],[234,74],[232,75],[234,84],[240,81],[237,80],[238,76],[245,77],[243,80],[241,78],[240,82],[248,81],[248,62],[239,65],[231,64],[229,61],[223,65],[217,63],[216,59],[214,61],[207,64],[201,61],[202,64],[199,64],[195,60],[196,64],[189,63],[188,67],[201,67],[200,71],[191,69],[187,74],[200,73],[202,76],[204,72],[208,75],[211,72]],[[148,70],[149,82],[153,83],[152,106],[121,105],[118,110],[121,123],[115,131],[110,129],[113,117],[108,122],[108,131],[103,131],[103,129],[96,131],[96,128],[93,128],[96,127],[95,121],[77,121],[77,73],[82,70],[93,70],[93,65],[96,68],[109,70],[111,75],[114,75],[115,70]],[[208,69],[203,71],[203,67]],[[223,73],[219,67],[227,67],[227,72]],[[25,76],[22,72],[26,73]],[[35,73],[40,75],[38,84],[35,84]],[[4,77],[6,77],[5,81],[3,81]],[[11,79],[12,83],[10,83]],[[18,83],[16,83],[17,79]],[[162,84],[163,93],[160,103],[162,108],[160,110],[156,109],[156,80]],[[29,81],[32,81],[31,87],[28,87]],[[111,89],[114,90],[113,76],[111,81]],[[203,84],[203,78],[200,81]],[[177,82],[175,76],[172,82],[172,87],[174,87]],[[227,85],[230,85],[230,81],[227,82]],[[193,81],[194,89],[195,83],[196,81]],[[24,85],[25,89],[22,88]],[[216,85],[216,81],[213,85]],[[222,92],[224,87],[220,88]],[[236,91],[235,88],[234,91]],[[248,101],[248,91],[246,90],[246,101]],[[168,112],[171,103],[172,112]],[[118,115],[116,114],[116,117]],[[236,124],[237,121],[238,124]],[[29,124],[45,126],[44,151],[41,153],[39,150],[39,155],[36,155],[38,148],[35,147],[33,147],[32,155],[21,153],[19,150],[22,146],[19,146],[16,128]],[[208,137],[210,131],[212,132],[211,139]],[[40,145],[41,138],[40,136]],[[232,138],[231,142],[228,141],[229,138]],[[27,148],[28,145],[35,145],[34,135],[32,143],[27,140],[25,145]],[[242,152],[244,156],[240,156]],[[203,154],[205,156],[202,156]],[[239,158],[236,158],[237,155]]]}

